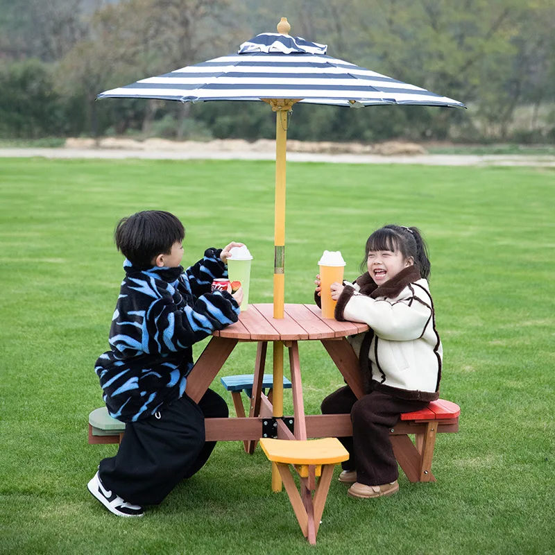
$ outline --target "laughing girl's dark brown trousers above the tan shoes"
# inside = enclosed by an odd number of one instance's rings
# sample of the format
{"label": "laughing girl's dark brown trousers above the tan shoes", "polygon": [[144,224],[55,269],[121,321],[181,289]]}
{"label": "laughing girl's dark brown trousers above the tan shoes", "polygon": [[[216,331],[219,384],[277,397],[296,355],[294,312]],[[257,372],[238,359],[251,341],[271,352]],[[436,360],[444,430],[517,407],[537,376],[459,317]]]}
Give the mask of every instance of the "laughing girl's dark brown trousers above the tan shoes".
{"label": "laughing girl's dark brown trousers above the tan shoes", "polygon": [[400,413],[419,411],[425,401],[407,401],[372,391],[357,400],[349,386],[328,395],[322,402],[323,414],[350,413],[352,437],[339,438],[350,458],[341,463],[343,470],[357,470],[357,481],[367,486],[382,486],[399,477],[397,460],[389,430]]}

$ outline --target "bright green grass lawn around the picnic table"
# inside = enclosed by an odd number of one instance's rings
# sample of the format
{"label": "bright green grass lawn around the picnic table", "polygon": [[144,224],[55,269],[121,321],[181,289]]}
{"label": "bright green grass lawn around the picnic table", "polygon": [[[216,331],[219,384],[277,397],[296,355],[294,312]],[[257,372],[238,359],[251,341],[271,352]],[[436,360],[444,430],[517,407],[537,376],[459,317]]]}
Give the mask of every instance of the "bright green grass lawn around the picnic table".
{"label": "bright green grass lawn around the picnic table", "polygon": [[[174,212],[187,228],[187,265],[207,246],[246,242],[250,301],[271,302],[274,173],[272,162],[0,160],[0,553],[555,552],[547,168],[287,169],[287,302],[311,302],[324,248],[341,249],[354,279],[379,225],[418,225],[427,237],[441,396],[462,411],[459,434],[438,436],[436,484],[401,475],[399,495],[366,502],[334,480],[316,547],[287,495],[271,493],[262,452],[248,456],[237,442],[219,443],[142,519],[114,517],[89,495],[100,459],[117,450],[87,444],[87,415],[102,404],[93,365],[123,276],[115,223],[137,210]],[[222,372],[249,373],[254,354],[239,345]],[[319,343],[302,343],[300,358],[307,413],[316,413],[342,380]],[[288,393],[285,404],[290,411]]]}

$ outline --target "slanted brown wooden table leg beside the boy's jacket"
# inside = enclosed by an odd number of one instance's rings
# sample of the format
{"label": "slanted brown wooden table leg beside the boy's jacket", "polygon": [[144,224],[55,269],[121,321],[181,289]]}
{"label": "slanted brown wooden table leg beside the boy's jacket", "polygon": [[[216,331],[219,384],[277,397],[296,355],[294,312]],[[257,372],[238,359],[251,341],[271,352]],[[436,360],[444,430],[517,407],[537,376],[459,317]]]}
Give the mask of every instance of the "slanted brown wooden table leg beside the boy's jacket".
{"label": "slanted brown wooden table leg beside the boy's jacket", "polygon": [[237,339],[217,336],[210,339],[187,377],[187,395],[194,402],[198,403],[206,393],[207,388],[210,387],[217,373],[231,355],[235,345],[237,345]]}

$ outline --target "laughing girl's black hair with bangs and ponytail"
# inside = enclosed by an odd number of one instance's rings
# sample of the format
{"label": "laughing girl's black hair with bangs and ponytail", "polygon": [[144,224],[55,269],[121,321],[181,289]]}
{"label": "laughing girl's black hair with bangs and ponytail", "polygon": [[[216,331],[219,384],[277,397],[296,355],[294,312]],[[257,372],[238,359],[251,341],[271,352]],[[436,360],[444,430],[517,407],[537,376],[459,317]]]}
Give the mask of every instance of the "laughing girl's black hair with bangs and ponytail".
{"label": "laughing girl's black hair with bangs and ponytail", "polygon": [[370,250],[391,250],[393,253],[398,250],[404,259],[413,257],[414,265],[420,271],[420,277],[429,278],[431,264],[428,259],[428,248],[418,228],[405,228],[404,225],[390,223],[375,230],[366,241],[364,260],[361,263],[363,271],[366,268]]}

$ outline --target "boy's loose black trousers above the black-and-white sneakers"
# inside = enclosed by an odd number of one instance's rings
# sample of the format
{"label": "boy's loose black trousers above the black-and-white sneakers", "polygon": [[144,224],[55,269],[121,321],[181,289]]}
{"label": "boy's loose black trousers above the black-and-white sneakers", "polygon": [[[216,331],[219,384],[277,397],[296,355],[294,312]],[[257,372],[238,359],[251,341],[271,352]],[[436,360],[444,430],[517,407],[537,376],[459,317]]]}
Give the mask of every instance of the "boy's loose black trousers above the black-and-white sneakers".
{"label": "boy's loose black trousers above the black-and-white sneakers", "polygon": [[205,441],[204,419],[227,416],[228,405],[208,389],[198,404],[185,393],[155,416],[128,422],[117,455],[100,463],[101,481],[127,502],[159,504],[212,453],[216,442]]}

